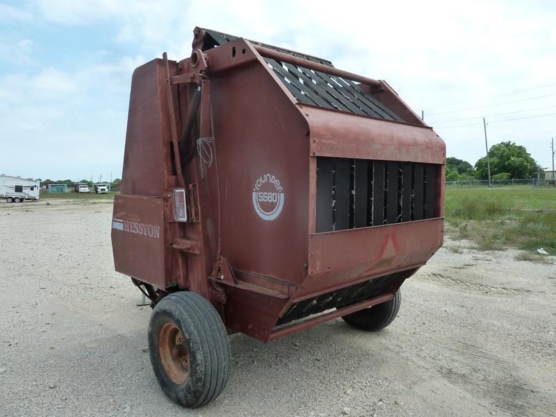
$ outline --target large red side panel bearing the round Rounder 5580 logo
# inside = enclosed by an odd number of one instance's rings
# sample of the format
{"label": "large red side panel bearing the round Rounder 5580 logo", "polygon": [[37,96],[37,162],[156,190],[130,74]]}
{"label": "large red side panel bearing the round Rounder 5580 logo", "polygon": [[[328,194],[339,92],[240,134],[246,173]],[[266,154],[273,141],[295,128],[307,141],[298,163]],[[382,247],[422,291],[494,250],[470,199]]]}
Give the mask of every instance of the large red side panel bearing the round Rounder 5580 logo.
{"label": "large red side panel bearing the round Rounder 5580 logo", "polygon": [[[259,63],[215,77],[211,88],[222,198],[222,255],[234,269],[299,284],[306,273],[308,244],[306,123]],[[208,175],[214,178],[211,172]],[[265,182],[271,178],[279,182]],[[260,202],[262,211],[276,209],[275,214],[258,214],[257,184],[261,192],[281,188],[282,206]],[[218,195],[214,182],[212,186],[211,194]],[[213,206],[217,204],[218,199],[213,199]]]}

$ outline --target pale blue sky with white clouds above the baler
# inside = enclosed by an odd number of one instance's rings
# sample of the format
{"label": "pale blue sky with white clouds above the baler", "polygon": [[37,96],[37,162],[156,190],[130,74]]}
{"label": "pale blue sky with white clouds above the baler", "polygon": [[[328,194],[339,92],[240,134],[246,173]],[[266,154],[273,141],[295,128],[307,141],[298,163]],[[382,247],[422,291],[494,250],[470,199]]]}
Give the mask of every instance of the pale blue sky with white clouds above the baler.
{"label": "pale blue sky with white clouds above the baler", "polygon": [[[448,156],[475,163],[484,154],[486,115],[489,145],[512,140],[548,167],[556,6],[450,3],[0,0],[0,174],[120,177],[131,73],[163,51],[188,56],[195,26],[386,79],[415,111],[425,109]],[[525,91],[501,95],[516,90]],[[445,106],[452,103],[461,104]],[[500,115],[510,112],[519,113]]]}

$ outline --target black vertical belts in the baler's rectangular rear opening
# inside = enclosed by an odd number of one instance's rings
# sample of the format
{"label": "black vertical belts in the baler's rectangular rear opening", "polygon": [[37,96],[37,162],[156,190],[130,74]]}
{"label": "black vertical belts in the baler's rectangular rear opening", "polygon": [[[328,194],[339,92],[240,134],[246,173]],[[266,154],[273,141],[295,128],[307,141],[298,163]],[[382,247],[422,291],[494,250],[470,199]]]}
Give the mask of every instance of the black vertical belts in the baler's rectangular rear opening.
{"label": "black vertical belts in the baler's rectangular rear opening", "polygon": [[317,158],[317,233],[435,217],[439,165]]}

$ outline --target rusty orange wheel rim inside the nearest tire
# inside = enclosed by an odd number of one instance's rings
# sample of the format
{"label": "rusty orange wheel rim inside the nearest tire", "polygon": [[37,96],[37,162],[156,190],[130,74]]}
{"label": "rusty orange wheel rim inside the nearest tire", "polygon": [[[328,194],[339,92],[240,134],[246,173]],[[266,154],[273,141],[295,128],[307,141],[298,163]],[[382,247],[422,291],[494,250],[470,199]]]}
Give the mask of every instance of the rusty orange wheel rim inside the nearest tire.
{"label": "rusty orange wheel rim inside the nearest tire", "polygon": [[176,384],[189,377],[189,349],[187,340],[174,323],[167,322],[158,333],[158,353],[166,374]]}

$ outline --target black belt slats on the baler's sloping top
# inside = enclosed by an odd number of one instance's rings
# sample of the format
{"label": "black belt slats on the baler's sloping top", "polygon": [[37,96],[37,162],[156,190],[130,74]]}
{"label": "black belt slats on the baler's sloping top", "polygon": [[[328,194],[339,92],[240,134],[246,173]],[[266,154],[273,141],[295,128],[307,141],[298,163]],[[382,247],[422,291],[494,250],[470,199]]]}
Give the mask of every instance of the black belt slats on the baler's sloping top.
{"label": "black belt slats on the baler's sloping top", "polygon": [[[225,33],[208,29],[204,29],[204,31],[210,37],[208,40],[205,40],[204,48],[215,47],[237,39],[235,36]],[[283,54],[297,56],[332,67],[330,61],[322,58],[274,47],[261,42],[250,42]],[[309,70],[305,67],[282,63],[270,58],[265,58],[265,61],[275,71],[280,81],[288,88],[297,101],[359,115],[402,121],[401,117],[375,99],[373,95],[363,92],[359,85],[353,81],[338,76],[331,76],[324,72]]]}

